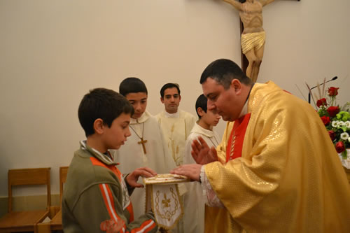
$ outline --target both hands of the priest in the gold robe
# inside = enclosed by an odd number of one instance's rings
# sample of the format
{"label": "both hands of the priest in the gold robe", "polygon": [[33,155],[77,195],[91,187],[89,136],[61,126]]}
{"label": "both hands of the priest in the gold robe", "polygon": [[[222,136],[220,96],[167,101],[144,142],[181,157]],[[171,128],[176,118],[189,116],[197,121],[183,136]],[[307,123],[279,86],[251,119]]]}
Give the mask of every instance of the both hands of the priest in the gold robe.
{"label": "both hands of the priest in the gold robe", "polygon": [[193,181],[200,181],[200,169],[202,165],[218,161],[218,153],[216,153],[214,146],[209,148],[201,136],[198,137],[198,140],[193,140],[191,146],[191,155],[197,164],[184,164],[176,167],[170,173],[187,176]]}

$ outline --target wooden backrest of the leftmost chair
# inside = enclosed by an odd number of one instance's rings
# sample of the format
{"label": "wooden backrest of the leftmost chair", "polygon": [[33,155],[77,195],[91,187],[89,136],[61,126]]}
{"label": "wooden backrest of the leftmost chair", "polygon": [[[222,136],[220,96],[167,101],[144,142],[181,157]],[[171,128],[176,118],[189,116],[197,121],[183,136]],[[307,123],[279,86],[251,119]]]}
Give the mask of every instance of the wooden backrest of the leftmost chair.
{"label": "wooden backrest of the leftmost chair", "polygon": [[12,188],[17,185],[46,185],[47,209],[51,205],[50,167],[36,169],[10,169],[8,170],[8,212],[12,211]]}

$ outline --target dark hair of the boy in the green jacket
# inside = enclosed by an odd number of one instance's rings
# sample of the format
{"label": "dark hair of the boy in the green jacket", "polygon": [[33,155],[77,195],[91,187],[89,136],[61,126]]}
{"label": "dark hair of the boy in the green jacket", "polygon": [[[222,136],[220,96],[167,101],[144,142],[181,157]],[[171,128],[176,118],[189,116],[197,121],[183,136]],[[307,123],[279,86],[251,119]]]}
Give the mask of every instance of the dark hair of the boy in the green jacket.
{"label": "dark hair of the boy in the green jacket", "polygon": [[133,115],[134,108],[123,95],[106,88],[95,88],[85,94],[78,108],[80,125],[85,136],[94,134],[94,121],[101,118],[111,127],[114,119],[122,113]]}

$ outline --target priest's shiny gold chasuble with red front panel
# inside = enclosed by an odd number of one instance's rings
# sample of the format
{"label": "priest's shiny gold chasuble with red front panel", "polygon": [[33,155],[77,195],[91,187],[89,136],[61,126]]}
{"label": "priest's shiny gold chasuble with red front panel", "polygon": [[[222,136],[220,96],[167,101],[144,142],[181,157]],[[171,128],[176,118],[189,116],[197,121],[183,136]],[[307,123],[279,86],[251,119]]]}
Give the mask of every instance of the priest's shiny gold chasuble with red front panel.
{"label": "priest's shiny gold chasuble with red front panel", "polygon": [[206,208],[205,232],[350,232],[349,183],[314,108],[270,81],[247,112],[205,165],[225,206]]}

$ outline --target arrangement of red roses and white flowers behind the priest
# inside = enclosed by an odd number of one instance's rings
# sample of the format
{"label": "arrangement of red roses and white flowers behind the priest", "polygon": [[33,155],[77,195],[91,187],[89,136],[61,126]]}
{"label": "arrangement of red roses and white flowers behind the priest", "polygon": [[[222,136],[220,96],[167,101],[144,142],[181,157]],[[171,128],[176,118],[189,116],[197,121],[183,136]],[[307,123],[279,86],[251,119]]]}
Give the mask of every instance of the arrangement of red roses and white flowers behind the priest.
{"label": "arrangement of red roses and white flowers behind the priest", "polygon": [[[350,148],[350,102],[339,107],[336,101],[338,90],[339,87],[329,87],[325,93],[324,83],[323,92],[318,85],[318,100],[314,104],[335,145],[335,150],[342,155],[343,160],[346,160],[348,157],[346,149]],[[312,99],[314,100],[314,97]]]}

